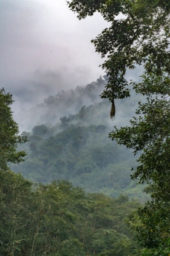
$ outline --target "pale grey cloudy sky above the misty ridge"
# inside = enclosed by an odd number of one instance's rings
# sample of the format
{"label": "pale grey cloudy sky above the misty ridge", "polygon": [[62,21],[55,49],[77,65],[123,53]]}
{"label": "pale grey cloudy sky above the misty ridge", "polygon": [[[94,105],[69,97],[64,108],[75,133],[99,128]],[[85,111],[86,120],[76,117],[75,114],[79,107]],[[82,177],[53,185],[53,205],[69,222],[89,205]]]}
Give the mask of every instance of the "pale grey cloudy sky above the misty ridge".
{"label": "pale grey cloudy sky above the misty ridge", "polygon": [[98,13],[79,21],[65,0],[1,0],[1,88],[29,108],[96,80],[103,60],[90,40],[105,27]]}

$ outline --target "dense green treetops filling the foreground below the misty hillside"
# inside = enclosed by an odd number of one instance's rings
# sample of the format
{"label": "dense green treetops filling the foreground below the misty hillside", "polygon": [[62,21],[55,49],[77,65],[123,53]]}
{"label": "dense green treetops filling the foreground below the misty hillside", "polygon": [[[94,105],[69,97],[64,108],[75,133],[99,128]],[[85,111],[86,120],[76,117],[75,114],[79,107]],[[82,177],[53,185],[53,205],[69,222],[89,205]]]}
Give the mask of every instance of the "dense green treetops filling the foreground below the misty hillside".
{"label": "dense green treetops filling the foreground below the misty hillside", "polygon": [[85,194],[69,182],[33,185],[0,172],[1,256],[138,255],[123,219],[138,207],[126,196]]}

